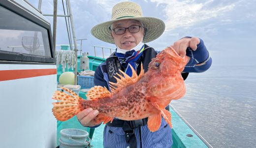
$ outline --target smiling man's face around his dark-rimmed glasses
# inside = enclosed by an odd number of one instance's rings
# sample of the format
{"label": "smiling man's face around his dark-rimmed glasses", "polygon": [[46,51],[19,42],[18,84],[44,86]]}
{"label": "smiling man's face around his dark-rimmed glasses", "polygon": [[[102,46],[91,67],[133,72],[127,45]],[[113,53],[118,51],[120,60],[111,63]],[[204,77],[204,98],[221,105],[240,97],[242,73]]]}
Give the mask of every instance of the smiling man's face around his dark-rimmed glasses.
{"label": "smiling man's face around his dark-rimmed glasses", "polygon": [[[120,20],[114,22],[112,24],[112,30],[117,27],[125,27],[128,28],[133,25],[141,26],[141,23],[137,20]],[[139,32],[137,33],[130,33],[128,29],[126,30],[125,34],[123,35],[116,35],[114,31],[111,32],[111,36],[114,38],[115,44],[125,50],[130,50],[135,47],[143,38],[143,28],[140,27]]]}

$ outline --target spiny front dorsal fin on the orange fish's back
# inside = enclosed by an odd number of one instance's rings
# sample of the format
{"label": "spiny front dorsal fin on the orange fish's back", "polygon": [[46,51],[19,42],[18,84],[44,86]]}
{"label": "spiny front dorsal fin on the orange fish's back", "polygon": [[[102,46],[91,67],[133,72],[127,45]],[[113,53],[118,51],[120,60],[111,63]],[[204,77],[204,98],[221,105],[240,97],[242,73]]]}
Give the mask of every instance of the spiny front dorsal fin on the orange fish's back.
{"label": "spiny front dorsal fin on the orange fish's back", "polygon": [[131,77],[128,74],[126,74],[125,72],[119,70],[120,73],[122,73],[124,76],[116,73],[120,77],[120,78],[118,78],[118,77],[114,76],[116,78],[117,82],[116,83],[109,82],[110,88],[111,88],[111,93],[113,93],[113,94],[117,93],[118,91],[127,87],[128,85],[136,83],[144,75],[144,70],[143,70],[142,64],[141,64],[141,71],[140,71],[139,75],[136,74],[135,70],[132,68],[132,66],[130,64],[129,64],[129,67],[131,68],[131,71],[132,71]]}

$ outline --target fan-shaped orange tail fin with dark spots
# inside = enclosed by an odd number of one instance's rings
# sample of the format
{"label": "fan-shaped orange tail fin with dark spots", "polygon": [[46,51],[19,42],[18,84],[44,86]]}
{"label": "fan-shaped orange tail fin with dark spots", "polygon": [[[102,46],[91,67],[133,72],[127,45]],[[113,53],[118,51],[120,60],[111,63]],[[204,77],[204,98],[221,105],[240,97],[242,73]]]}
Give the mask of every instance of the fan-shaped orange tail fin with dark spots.
{"label": "fan-shaped orange tail fin with dark spots", "polygon": [[66,121],[76,115],[78,112],[83,111],[82,101],[75,92],[70,89],[61,87],[71,95],[68,95],[62,91],[55,91],[52,99],[59,100],[61,102],[53,103],[52,112],[57,120]]}

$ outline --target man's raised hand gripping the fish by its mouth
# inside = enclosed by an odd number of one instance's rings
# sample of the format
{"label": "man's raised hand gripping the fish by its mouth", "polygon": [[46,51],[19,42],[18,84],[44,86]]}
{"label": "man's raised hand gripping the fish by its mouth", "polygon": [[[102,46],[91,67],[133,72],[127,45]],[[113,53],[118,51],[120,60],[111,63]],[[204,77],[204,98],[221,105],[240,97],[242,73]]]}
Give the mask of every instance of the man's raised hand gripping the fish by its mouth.
{"label": "man's raised hand gripping the fish by its mouth", "polygon": [[186,55],[186,50],[188,47],[191,47],[193,51],[196,50],[197,44],[199,44],[200,39],[198,37],[184,37],[180,40],[177,40],[171,45],[172,48],[181,56],[184,57]]}

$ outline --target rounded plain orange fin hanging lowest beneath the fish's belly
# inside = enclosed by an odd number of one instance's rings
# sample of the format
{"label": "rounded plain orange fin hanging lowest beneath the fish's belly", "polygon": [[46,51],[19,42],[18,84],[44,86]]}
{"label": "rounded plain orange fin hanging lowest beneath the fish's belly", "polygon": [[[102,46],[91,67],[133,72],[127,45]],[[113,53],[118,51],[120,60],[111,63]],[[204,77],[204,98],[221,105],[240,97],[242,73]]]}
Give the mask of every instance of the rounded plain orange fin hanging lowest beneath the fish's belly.
{"label": "rounded plain orange fin hanging lowest beneath the fish's belly", "polygon": [[148,118],[148,128],[151,132],[155,132],[159,129],[160,125],[161,125],[161,114],[154,114],[149,116]]}

